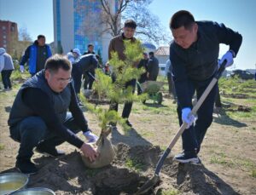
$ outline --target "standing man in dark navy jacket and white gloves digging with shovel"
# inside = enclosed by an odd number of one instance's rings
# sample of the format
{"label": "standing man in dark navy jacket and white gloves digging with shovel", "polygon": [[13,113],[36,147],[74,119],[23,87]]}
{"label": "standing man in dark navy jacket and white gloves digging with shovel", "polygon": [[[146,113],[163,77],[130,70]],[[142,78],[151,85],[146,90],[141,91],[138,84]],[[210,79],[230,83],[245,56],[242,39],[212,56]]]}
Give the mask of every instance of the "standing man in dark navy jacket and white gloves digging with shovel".
{"label": "standing man in dark navy jacket and white gloves digging with shovel", "polygon": [[[200,163],[197,157],[201,143],[212,123],[217,84],[197,112],[197,120],[190,115],[192,97],[201,97],[212,81],[219,64],[226,60],[226,67],[233,64],[241,46],[242,37],[224,24],[212,21],[195,21],[189,11],[181,10],[172,15],[170,29],[174,40],[170,46],[173,80],[177,93],[177,114],[180,125],[187,124],[183,132],[183,152],[174,160],[180,163]],[[219,43],[230,46],[218,64]],[[194,124],[195,122],[195,124]]]}

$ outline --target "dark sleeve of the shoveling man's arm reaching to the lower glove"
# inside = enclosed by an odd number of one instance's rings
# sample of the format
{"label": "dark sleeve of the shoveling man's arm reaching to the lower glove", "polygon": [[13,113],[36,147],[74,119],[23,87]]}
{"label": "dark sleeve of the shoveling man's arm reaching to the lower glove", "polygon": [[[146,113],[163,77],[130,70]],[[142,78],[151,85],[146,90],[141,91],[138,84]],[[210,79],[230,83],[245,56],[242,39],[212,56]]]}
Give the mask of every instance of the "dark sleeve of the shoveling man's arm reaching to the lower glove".
{"label": "dark sleeve of the shoveling man's arm reaching to the lower glove", "polygon": [[184,107],[191,107],[188,89],[189,79],[185,70],[185,62],[177,55],[172,44],[170,47],[170,60],[172,66],[172,78],[175,84],[179,105],[182,109]]}

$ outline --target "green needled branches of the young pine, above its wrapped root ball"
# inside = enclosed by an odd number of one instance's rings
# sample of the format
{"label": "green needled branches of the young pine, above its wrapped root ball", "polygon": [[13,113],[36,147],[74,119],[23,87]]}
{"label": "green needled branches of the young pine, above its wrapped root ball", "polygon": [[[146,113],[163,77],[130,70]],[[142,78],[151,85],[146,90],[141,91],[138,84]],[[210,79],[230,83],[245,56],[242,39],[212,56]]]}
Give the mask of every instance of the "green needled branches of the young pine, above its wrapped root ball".
{"label": "green needled branches of the young pine, above its wrapped root ball", "polygon": [[[143,68],[138,69],[137,63],[143,59],[143,48],[140,41],[131,43],[130,40],[125,40],[126,59],[120,60],[117,52],[111,54],[112,59],[109,61],[110,66],[113,67],[113,74],[116,81],[113,83],[111,77],[105,75],[100,70],[96,70],[96,83],[94,85],[96,92],[101,100],[102,96],[106,96],[110,102],[125,103],[131,101],[144,100],[145,95],[136,95],[132,93],[132,88],[125,89],[125,83],[131,79],[137,79],[144,72]],[[84,97],[81,97],[84,100]],[[109,111],[99,106],[92,106],[88,102],[85,103],[91,112],[96,113],[99,118],[100,127],[108,128],[108,123],[120,123],[124,129],[129,129],[125,124],[125,119],[119,116],[116,111]]]}

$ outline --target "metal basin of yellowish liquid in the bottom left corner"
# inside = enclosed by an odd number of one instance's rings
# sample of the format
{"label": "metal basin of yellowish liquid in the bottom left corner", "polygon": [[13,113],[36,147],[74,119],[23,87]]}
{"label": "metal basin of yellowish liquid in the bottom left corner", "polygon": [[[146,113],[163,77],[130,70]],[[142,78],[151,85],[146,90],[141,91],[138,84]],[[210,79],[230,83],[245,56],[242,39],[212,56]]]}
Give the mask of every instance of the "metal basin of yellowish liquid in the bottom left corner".
{"label": "metal basin of yellowish liquid in the bottom left corner", "polygon": [[15,192],[26,186],[28,175],[21,173],[0,174],[0,195]]}

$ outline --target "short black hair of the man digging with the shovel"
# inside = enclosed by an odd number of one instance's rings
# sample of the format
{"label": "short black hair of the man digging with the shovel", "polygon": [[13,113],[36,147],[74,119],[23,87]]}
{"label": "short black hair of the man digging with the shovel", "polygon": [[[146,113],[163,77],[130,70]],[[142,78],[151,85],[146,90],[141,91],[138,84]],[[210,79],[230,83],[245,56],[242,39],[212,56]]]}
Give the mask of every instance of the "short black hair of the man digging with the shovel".
{"label": "short black hair of the man digging with the shovel", "polygon": [[186,30],[190,29],[195,23],[193,14],[186,10],[180,10],[172,15],[170,20],[170,29],[177,29],[184,26]]}

